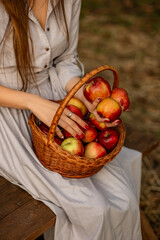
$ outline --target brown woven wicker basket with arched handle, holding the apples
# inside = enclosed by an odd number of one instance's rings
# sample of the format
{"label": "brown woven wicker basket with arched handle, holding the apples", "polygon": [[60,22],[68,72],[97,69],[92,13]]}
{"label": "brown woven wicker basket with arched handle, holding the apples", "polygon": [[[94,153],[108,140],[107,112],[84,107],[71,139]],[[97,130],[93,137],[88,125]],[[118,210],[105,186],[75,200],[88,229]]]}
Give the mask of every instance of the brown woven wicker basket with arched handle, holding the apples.
{"label": "brown woven wicker basket with arched handle, holding the apples", "polygon": [[72,96],[82,87],[89,79],[104,70],[110,70],[114,75],[113,88],[119,86],[119,77],[115,68],[107,65],[100,66],[90,73],[87,73],[67,94],[60,104],[50,127],[48,135],[45,135],[35,123],[35,116],[31,113],[29,125],[32,130],[34,151],[44,167],[51,171],[60,173],[68,178],[84,178],[97,173],[105,164],[109,163],[120,152],[125,140],[125,128],[123,123],[117,126],[119,132],[119,141],[116,147],[108,155],[88,159],[85,157],[72,155],[64,150],[54,141],[55,129],[58,120]]}

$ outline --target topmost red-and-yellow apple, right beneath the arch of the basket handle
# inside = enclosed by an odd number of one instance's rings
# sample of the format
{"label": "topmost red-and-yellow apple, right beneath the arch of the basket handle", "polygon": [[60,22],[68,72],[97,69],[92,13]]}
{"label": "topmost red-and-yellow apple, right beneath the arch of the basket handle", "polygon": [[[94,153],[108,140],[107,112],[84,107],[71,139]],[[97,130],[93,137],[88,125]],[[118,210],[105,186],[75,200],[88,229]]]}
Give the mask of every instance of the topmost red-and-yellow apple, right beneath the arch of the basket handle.
{"label": "topmost red-and-yellow apple, right beneath the arch of the basket handle", "polygon": [[94,77],[83,88],[85,98],[93,102],[96,98],[107,98],[111,95],[111,87],[107,80],[102,77]]}

